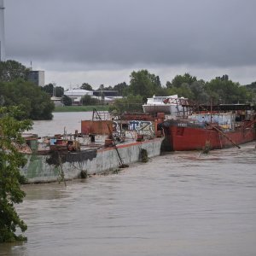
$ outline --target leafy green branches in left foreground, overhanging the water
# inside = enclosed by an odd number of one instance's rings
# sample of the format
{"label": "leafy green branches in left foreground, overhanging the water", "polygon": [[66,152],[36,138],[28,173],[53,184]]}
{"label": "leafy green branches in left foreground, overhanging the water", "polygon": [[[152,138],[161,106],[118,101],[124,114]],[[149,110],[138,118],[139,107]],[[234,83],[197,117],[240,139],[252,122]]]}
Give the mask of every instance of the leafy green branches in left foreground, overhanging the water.
{"label": "leafy green branches in left foreground, overhanging the water", "polygon": [[0,107],[0,242],[26,240],[24,236],[16,236],[17,228],[26,231],[26,224],[15,211],[25,197],[20,189],[19,168],[26,160],[18,151],[23,143],[21,132],[32,128],[31,120],[17,120],[20,110],[17,107]]}

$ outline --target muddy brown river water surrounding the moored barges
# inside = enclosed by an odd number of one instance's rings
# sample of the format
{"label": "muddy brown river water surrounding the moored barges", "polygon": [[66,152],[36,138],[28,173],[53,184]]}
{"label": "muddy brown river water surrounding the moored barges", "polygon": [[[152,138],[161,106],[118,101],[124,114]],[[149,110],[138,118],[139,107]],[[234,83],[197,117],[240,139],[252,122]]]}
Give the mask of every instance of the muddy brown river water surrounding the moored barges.
{"label": "muddy brown river water surrounding the moored barges", "polygon": [[[34,127],[79,130],[80,119],[84,114],[55,113]],[[28,241],[1,244],[0,255],[254,256],[255,164],[254,142],[207,155],[163,154],[67,188],[25,185],[17,211]]]}

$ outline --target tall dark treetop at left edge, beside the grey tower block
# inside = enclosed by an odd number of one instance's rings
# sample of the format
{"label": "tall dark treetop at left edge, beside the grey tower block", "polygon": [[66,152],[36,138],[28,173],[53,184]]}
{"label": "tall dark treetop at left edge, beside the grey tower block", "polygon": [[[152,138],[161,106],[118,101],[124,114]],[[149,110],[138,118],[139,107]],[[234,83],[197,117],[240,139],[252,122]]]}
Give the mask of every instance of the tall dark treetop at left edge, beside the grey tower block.
{"label": "tall dark treetop at left edge, beside the grey tower block", "polygon": [[0,82],[27,79],[29,69],[18,61],[0,61]]}

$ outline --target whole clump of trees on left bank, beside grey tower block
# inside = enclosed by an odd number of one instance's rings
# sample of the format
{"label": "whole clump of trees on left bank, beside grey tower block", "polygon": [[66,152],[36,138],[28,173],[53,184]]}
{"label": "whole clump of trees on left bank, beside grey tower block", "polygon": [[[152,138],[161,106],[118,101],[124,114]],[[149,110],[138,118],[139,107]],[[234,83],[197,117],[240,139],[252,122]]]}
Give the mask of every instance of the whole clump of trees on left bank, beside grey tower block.
{"label": "whole clump of trees on left bank, beside grey tower block", "polygon": [[20,106],[20,119],[52,119],[54,103],[28,81],[29,69],[17,61],[0,61],[0,107]]}

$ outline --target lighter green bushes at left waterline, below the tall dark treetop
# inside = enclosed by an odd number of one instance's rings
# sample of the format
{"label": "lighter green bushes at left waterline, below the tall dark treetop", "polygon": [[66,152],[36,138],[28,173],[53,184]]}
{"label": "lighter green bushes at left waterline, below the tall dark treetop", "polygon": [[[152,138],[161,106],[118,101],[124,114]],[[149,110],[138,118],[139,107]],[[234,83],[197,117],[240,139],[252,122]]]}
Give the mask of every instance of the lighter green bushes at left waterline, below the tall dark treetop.
{"label": "lighter green bushes at left waterline, below the tall dark treetop", "polygon": [[20,106],[20,119],[52,119],[53,102],[47,93],[31,82],[18,79],[0,83],[3,106]]}

